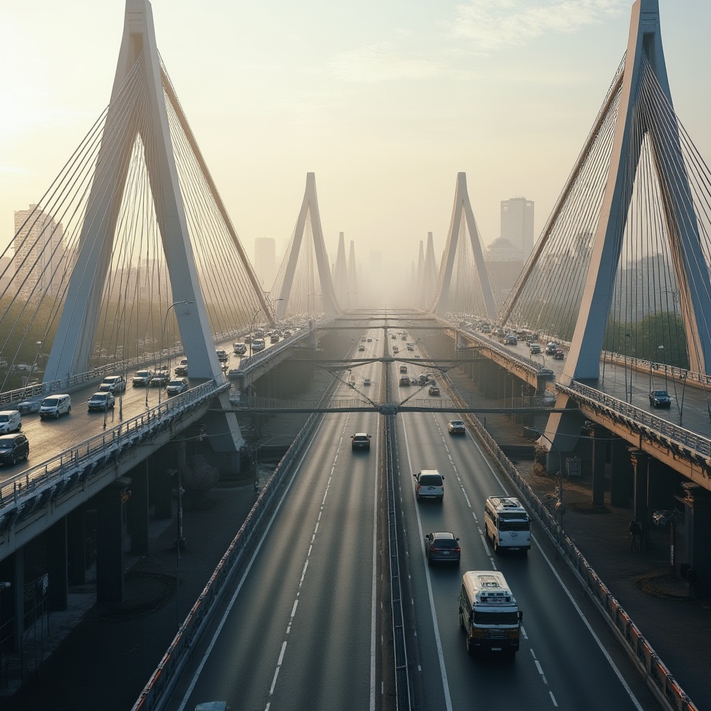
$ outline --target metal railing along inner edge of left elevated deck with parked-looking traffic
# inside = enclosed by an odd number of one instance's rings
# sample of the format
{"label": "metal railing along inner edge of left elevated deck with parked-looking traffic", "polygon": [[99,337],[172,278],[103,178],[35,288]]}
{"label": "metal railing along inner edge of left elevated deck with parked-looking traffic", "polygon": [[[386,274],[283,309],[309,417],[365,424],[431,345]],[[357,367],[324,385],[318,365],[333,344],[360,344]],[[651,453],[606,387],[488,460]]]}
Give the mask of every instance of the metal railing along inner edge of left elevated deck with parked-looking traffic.
{"label": "metal railing along inner edge of left elevated deck with parked-looking traffic", "polygon": [[[135,447],[151,433],[157,434],[165,423],[189,407],[199,405],[229,387],[228,383],[217,385],[213,380],[193,387],[187,392],[169,397],[161,405],[124,420],[102,434],[89,437],[71,449],[66,449],[41,464],[31,466],[20,474],[0,483],[0,533],[7,529],[10,520],[9,508],[15,508],[17,516],[28,514],[27,504],[33,501],[35,509],[45,506],[48,498],[66,493],[73,486],[96,473],[112,456]],[[48,489],[56,486],[53,491]],[[46,493],[47,492],[47,493]],[[46,500],[45,500],[46,499]]]}

